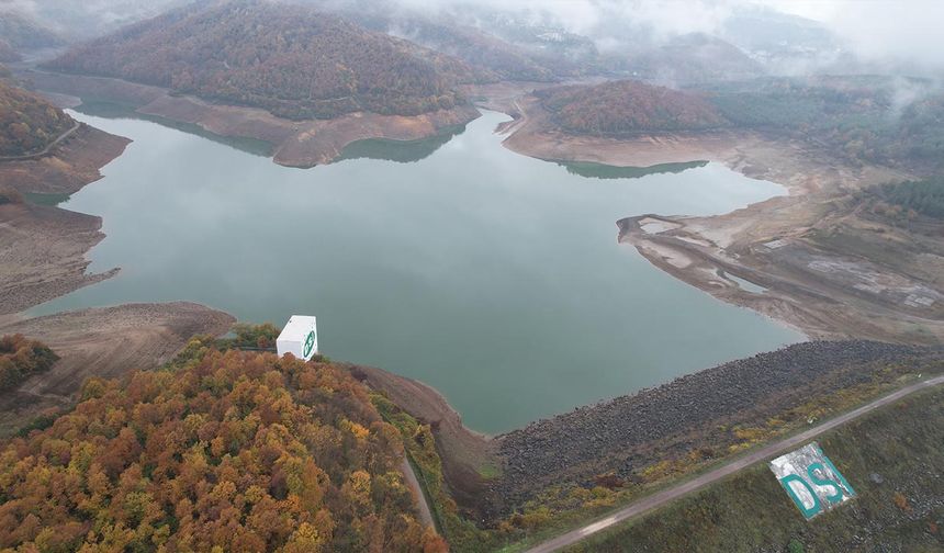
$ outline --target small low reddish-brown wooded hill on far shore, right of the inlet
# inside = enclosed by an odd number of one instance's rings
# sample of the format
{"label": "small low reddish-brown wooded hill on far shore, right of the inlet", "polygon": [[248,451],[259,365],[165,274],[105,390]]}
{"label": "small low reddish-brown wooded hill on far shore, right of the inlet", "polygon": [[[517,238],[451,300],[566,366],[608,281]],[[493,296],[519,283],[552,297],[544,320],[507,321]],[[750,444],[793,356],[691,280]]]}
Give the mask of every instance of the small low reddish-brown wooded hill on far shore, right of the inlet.
{"label": "small low reddish-brown wooded hill on far shore, right of the inlet", "polygon": [[727,125],[696,94],[625,80],[535,92],[565,131],[586,134],[716,128]]}

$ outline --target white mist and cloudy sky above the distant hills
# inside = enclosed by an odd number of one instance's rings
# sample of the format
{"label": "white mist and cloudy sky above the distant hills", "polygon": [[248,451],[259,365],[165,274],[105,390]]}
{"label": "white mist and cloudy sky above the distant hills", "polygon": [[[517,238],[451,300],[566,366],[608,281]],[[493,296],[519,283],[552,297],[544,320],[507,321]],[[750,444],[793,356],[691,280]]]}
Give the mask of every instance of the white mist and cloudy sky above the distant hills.
{"label": "white mist and cloudy sky above the distant hills", "polygon": [[[213,4],[225,0],[198,0]],[[787,2],[783,0],[270,0],[306,3],[353,16],[380,16],[394,35],[417,38],[403,21],[417,18],[480,30],[521,47],[576,59],[616,58],[696,37],[723,41],[772,75],[895,74],[935,77],[936,23],[944,4]],[[188,5],[188,0],[0,0],[0,12],[34,19],[69,41]],[[375,22],[377,23],[377,22]],[[415,30],[413,30],[415,33]],[[418,37],[422,42],[423,37]],[[679,41],[682,41],[679,43]],[[672,84],[672,82],[666,82]]]}

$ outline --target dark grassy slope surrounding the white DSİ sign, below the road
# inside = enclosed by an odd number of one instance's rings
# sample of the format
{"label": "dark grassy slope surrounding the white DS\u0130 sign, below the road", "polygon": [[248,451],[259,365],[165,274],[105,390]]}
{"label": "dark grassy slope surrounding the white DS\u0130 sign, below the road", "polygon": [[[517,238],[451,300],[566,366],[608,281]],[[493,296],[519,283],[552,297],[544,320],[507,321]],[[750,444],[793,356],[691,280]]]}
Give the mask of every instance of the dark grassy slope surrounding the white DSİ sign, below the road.
{"label": "dark grassy slope surrounding the white DS\u0130 sign, below the road", "polygon": [[858,497],[810,522],[760,464],[573,551],[944,548],[944,390],[907,398],[819,441]]}

